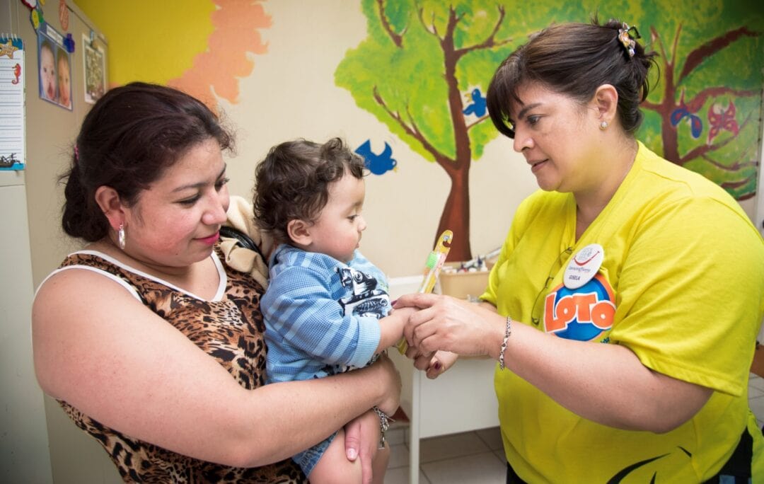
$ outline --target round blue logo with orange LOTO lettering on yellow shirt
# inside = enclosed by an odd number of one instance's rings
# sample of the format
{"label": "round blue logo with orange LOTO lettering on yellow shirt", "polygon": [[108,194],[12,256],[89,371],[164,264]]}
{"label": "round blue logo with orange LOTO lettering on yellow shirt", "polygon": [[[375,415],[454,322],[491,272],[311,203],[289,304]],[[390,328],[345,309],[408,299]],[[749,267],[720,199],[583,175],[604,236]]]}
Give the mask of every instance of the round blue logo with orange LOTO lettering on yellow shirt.
{"label": "round blue logo with orange LOTO lettering on yellow shirt", "polygon": [[544,300],[544,329],[566,339],[597,339],[613,326],[614,300],[602,274],[577,289],[560,284]]}

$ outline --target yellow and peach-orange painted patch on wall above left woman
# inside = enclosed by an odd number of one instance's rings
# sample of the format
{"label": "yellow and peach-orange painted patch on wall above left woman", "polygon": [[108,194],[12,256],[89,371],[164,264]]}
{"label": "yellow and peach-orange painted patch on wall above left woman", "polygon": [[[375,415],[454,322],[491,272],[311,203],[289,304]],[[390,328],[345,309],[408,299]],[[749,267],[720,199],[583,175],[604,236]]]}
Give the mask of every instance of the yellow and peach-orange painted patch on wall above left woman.
{"label": "yellow and peach-orange painted patch on wall above left woman", "polygon": [[266,0],[102,2],[76,0],[103,31],[111,86],[134,80],[168,84],[215,108],[238,103],[239,83],[254,71],[252,54],[267,52],[272,25]]}

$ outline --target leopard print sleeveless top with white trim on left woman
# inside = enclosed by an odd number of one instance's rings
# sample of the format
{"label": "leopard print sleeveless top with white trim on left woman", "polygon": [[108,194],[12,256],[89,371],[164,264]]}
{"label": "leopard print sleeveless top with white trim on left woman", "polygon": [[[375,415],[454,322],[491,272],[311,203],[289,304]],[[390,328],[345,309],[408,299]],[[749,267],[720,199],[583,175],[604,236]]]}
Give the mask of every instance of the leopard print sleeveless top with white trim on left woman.
{"label": "leopard print sleeveless top with white trim on left woman", "polygon": [[[248,274],[224,267],[218,254],[212,258],[221,274],[221,284],[225,284],[225,293],[215,300],[200,300],[99,252],[76,252],[63,261],[61,268],[86,266],[105,272],[105,277],[118,278],[115,280],[128,284],[154,313],[216,359],[239,385],[260,387],[265,384],[266,357],[260,312],[263,288]],[[105,427],[66,401],[59,403],[78,427],[99,440],[125,482],[307,482],[291,459],[251,469],[196,460],[131,438]]]}

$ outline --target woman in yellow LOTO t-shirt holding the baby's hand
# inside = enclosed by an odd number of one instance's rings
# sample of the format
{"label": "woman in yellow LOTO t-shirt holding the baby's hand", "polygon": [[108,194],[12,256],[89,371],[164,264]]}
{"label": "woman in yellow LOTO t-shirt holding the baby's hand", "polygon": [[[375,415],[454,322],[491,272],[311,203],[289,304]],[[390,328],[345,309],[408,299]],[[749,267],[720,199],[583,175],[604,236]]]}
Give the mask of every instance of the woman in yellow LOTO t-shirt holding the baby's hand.
{"label": "woman in yellow LOTO t-shirt holding the baby's hand", "polygon": [[490,116],[541,190],[482,304],[396,304],[422,308],[411,354],[498,360],[507,482],[764,479],[747,403],[764,241],[724,190],[634,138],[656,55],[637,37],[620,21],[556,24],[503,61]]}

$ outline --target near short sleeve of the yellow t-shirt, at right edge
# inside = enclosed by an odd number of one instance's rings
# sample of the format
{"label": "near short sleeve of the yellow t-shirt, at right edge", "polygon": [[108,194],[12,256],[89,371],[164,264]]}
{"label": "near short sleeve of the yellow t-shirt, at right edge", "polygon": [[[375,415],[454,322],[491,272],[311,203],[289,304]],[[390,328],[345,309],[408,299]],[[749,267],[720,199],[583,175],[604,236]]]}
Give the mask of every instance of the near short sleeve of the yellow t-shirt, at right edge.
{"label": "near short sleeve of the yellow t-shirt, at right edge", "polygon": [[711,198],[662,206],[636,230],[611,340],[656,372],[741,395],[764,315],[759,232]]}

